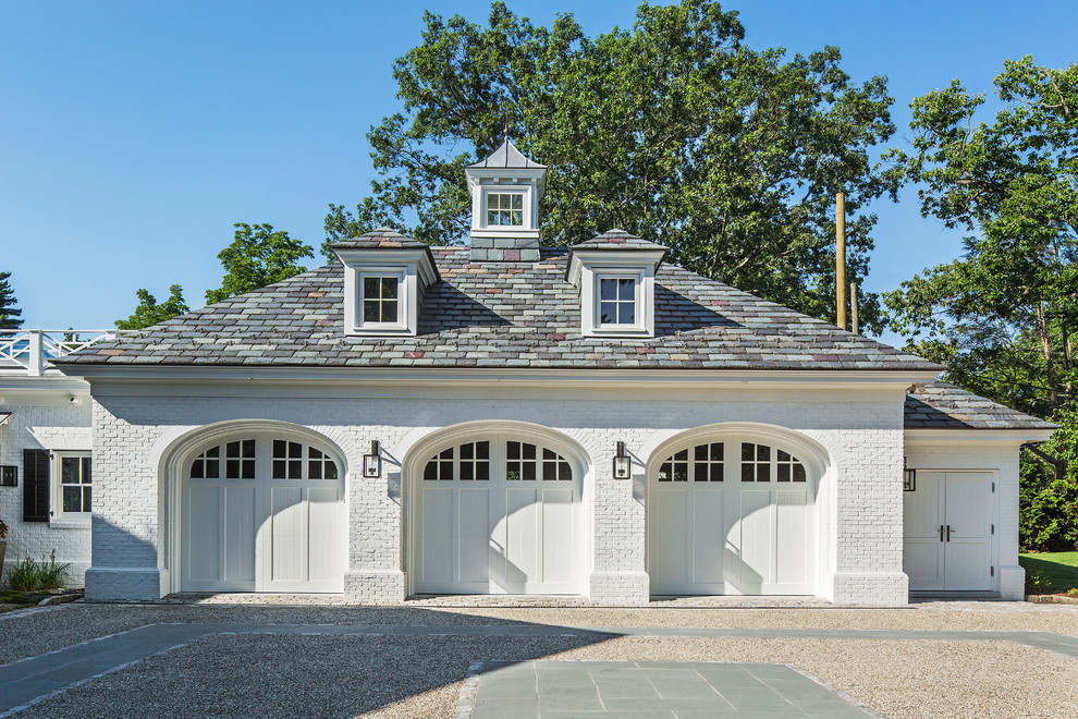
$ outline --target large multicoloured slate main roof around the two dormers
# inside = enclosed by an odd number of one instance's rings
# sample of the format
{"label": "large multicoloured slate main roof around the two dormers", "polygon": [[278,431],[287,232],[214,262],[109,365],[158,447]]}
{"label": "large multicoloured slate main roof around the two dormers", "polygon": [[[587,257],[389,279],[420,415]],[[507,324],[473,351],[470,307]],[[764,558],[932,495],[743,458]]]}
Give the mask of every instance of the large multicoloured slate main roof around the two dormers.
{"label": "large multicoloured slate main roof around the two dormers", "polygon": [[[363,239],[360,239],[363,240]],[[585,338],[566,251],[473,263],[431,249],[417,337],[346,337],[340,265],[197,309],[64,364],[572,369],[941,369],[673,265],[656,275],[656,337]]]}

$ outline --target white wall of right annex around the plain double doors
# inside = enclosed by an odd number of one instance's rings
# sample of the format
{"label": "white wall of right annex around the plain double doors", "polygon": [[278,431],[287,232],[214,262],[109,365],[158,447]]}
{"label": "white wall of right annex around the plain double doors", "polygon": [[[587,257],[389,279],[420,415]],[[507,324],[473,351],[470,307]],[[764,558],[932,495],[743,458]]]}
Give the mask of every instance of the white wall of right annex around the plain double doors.
{"label": "white wall of right annex around the plain double doors", "polygon": [[1020,440],[993,441],[993,430],[954,439],[941,438],[948,430],[909,431],[906,462],[917,470],[988,470],[995,473],[995,535],[993,552],[996,590],[1004,599],[1025,596],[1026,572],[1018,565],[1018,462]]}

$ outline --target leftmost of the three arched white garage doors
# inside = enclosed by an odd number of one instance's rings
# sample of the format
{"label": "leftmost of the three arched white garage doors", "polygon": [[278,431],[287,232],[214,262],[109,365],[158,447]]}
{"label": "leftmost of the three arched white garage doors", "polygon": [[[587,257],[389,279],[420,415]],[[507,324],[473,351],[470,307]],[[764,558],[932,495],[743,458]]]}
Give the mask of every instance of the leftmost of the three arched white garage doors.
{"label": "leftmost of the three arched white garage doors", "polygon": [[321,449],[223,441],[191,460],[181,491],[183,590],[344,590],[344,477]]}

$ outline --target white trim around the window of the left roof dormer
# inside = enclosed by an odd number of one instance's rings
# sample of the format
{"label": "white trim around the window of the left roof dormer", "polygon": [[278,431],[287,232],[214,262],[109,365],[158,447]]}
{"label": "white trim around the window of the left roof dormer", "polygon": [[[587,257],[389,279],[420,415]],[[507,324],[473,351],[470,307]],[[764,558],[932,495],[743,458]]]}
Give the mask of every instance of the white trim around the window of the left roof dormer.
{"label": "white trim around the window of the left roof dormer", "polygon": [[[359,337],[415,336],[419,326],[419,301],[438,275],[425,247],[363,247],[336,249],[344,265],[344,333]],[[391,277],[397,280],[397,320],[364,321],[363,279]]]}

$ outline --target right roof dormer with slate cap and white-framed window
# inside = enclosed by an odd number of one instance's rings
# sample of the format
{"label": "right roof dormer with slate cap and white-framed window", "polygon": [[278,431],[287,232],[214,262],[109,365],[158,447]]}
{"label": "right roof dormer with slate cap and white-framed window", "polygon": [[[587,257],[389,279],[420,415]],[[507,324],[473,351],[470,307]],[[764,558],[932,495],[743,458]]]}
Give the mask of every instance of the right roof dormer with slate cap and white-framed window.
{"label": "right roof dormer with slate cap and white-framed window", "polygon": [[654,337],[656,271],[666,248],[624,230],[573,245],[565,279],[580,288],[585,337]]}

